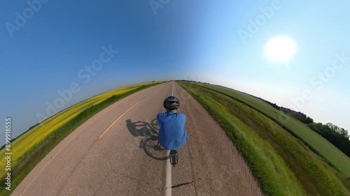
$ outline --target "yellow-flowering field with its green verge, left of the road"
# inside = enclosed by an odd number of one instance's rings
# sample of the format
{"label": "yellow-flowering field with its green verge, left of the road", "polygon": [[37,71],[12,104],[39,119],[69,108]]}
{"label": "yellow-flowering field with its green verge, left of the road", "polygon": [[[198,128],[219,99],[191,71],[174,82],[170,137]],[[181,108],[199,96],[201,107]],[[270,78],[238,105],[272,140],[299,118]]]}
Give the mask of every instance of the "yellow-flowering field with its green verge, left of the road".
{"label": "yellow-flowering field with its green verge, left of the road", "polygon": [[[78,126],[87,119],[90,119],[94,114],[97,114],[97,112],[103,110],[117,100],[129,96],[131,93],[160,83],[162,82],[148,82],[125,86],[83,100],[51,116],[49,119],[46,119],[38,126],[18,137],[18,139],[11,144],[13,178],[11,188],[14,189],[15,186],[29,174],[30,170],[33,169],[54,146],[62,141],[66,135],[69,135],[71,131],[78,128]],[[1,149],[0,165],[6,164],[4,153],[5,149]],[[3,179],[5,175],[6,171],[1,169],[1,179]],[[0,188],[0,195],[10,194],[8,191],[3,191],[2,181]]]}

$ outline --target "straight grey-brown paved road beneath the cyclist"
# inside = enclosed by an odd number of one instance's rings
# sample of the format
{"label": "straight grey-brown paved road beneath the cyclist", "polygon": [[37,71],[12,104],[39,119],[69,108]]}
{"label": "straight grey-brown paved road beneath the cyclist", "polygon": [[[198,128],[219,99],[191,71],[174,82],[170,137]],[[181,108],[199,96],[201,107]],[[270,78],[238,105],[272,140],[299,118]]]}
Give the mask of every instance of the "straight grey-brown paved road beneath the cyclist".
{"label": "straight grey-brown paved road beneath the cyclist", "polygon": [[[155,151],[155,117],[178,96],[188,142],[179,164]],[[167,183],[171,184],[167,188]],[[134,93],[83,123],[12,195],[262,195],[225,132],[185,90],[167,82]]]}

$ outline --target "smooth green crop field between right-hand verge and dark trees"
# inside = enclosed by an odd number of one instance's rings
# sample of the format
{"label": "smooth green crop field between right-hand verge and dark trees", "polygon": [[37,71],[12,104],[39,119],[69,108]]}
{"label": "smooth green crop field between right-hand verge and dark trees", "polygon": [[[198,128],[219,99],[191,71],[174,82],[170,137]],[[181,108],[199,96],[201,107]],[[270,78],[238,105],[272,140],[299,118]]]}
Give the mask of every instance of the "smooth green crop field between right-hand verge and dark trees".
{"label": "smooth green crop field between right-hand verge and dark trees", "polygon": [[327,161],[329,165],[335,167],[335,169],[342,172],[345,176],[350,176],[350,158],[328,142],[328,140],[325,140],[325,138],[318,135],[316,132],[314,132],[314,130],[311,130],[297,119],[276,110],[274,107],[265,103],[264,101],[246,93],[241,93],[223,86],[214,86],[201,83],[194,84],[211,89],[218,93],[223,93],[225,96],[234,98],[235,100],[244,103],[254,110],[264,114],[265,116],[269,117],[269,119],[279,124],[279,126],[281,126],[283,129],[287,130],[294,137],[301,140],[306,146],[309,147],[309,149]]}

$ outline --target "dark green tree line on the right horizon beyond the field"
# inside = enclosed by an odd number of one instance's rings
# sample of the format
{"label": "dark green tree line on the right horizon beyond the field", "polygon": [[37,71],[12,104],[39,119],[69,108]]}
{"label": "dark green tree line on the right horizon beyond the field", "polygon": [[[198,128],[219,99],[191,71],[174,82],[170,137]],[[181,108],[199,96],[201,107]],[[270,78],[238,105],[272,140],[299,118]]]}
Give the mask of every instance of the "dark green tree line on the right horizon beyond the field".
{"label": "dark green tree line on the right horizon beyond the field", "polygon": [[[263,100],[260,98],[260,100]],[[321,135],[328,140],[330,143],[335,145],[339,150],[350,157],[350,136],[346,129],[339,128],[332,123],[315,123],[314,119],[311,119],[309,116],[303,114],[302,112],[295,112],[286,107],[279,107],[276,103],[270,103],[267,100],[263,100],[265,103],[268,103],[277,110],[281,110],[290,116],[293,116],[295,119],[298,119],[304,124],[307,124],[311,130],[314,130],[316,133]]]}

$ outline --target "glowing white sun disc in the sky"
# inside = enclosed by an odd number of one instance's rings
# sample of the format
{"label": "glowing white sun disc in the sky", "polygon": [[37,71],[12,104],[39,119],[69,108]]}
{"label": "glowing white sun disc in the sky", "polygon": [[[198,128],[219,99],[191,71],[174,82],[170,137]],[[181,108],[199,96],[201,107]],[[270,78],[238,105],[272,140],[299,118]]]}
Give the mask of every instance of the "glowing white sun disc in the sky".
{"label": "glowing white sun disc in the sky", "polygon": [[295,42],[288,37],[276,37],[265,46],[265,54],[274,61],[288,61],[295,54]]}

